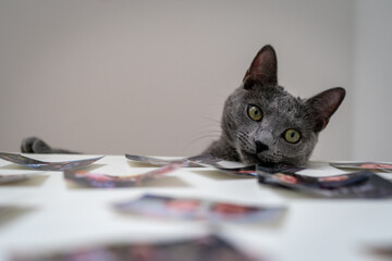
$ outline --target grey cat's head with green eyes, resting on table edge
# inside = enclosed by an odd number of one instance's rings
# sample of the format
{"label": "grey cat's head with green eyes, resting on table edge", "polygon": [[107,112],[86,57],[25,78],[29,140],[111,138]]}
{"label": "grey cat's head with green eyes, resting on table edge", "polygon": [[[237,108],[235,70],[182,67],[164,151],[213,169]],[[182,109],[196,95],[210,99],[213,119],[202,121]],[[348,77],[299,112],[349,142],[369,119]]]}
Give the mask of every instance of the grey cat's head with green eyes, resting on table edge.
{"label": "grey cat's head with green eyes, resting on table edge", "polygon": [[225,102],[223,135],[245,163],[303,164],[344,96],[340,87],[309,99],[290,95],[278,85],[275,51],[265,46]]}

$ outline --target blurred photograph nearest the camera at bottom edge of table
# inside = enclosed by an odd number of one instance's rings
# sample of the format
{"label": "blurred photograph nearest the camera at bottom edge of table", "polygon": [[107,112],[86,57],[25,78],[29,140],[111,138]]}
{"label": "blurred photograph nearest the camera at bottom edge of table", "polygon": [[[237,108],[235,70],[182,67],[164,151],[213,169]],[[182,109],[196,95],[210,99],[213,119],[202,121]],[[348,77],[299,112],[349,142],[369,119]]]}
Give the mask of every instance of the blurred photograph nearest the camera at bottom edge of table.
{"label": "blurred photograph nearest the camera at bottom edge of table", "polygon": [[[15,254],[12,261],[256,261],[218,236],[156,244],[112,244],[47,254]],[[258,258],[262,261],[266,259]]]}

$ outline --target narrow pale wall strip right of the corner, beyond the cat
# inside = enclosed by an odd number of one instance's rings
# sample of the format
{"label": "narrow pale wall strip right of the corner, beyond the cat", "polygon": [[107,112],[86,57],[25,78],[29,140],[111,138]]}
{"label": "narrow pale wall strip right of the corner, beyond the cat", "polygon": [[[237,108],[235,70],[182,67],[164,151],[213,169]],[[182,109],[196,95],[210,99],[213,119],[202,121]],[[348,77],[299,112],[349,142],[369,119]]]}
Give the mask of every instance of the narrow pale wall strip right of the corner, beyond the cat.
{"label": "narrow pale wall strip right of the corner, beyond the cat", "polygon": [[356,2],[353,158],[392,161],[392,1]]}

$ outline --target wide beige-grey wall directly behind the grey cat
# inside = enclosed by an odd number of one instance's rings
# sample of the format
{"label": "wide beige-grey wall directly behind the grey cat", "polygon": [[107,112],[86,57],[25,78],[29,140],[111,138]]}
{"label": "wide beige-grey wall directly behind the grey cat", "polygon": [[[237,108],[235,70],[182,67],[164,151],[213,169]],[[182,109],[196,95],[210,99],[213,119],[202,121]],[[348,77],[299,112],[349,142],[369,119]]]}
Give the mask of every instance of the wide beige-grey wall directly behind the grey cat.
{"label": "wide beige-grey wall directly behind the grey cat", "polygon": [[218,135],[223,101],[256,52],[271,44],[280,84],[295,96],[347,89],[314,159],[351,159],[353,7],[3,0],[0,150],[17,151],[35,135],[89,153],[196,154]]}

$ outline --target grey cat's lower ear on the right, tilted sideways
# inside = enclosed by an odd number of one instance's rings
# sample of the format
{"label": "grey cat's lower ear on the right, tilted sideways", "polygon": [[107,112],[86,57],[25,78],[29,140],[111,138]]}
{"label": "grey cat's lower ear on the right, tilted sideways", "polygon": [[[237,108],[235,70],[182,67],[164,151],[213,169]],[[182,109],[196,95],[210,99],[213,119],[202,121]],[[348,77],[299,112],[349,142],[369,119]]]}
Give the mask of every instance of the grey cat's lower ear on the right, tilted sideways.
{"label": "grey cat's lower ear on the right, tilted sideways", "polygon": [[345,97],[345,89],[341,87],[328,89],[321,94],[308,99],[306,103],[310,107],[315,116],[315,132],[321,132],[332,114],[338,110]]}

